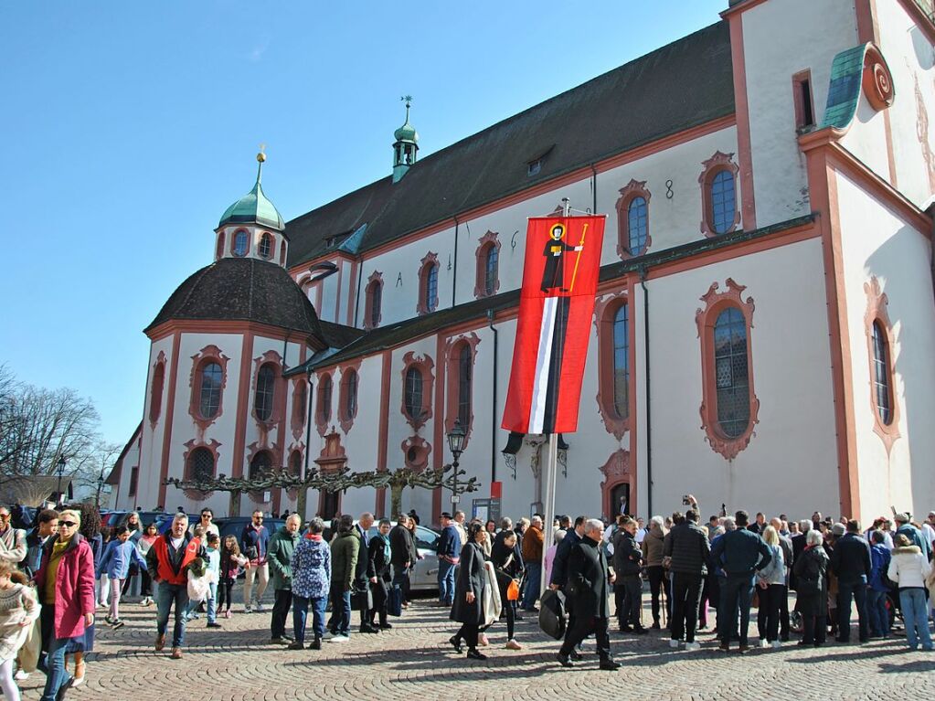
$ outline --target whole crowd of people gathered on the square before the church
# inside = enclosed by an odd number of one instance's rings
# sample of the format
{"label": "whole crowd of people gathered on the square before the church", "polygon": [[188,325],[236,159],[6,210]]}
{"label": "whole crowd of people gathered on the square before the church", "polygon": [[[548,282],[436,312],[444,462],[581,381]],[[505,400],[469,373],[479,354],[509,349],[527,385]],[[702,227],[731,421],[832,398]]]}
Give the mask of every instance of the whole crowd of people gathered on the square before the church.
{"label": "whole crowd of people gathered on the square before the church", "polygon": [[[673,649],[698,650],[698,635],[711,632],[719,650],[736,643],[741,653],[749,651],[752,608],[761,648],[780,648],[798,633],[801,646],[824,645],[828,635],[848,643],[856,605],[857,641],[889,637],[899,608],[908,646],[932,650],[935,511],[921,523],[908,513],[882,517],[867,530],[817,512],[798,522],[757,513],[751,522],[739,510],[702,524],[695,498],[683,501],[684,512],[648,524],[627,514],[610,524],[579,516],[559,517],[547,529],[539,514],[515,524],[468,521],[463,511],[440,514],[438,605],[460,624],[449,638],[453,650],[486,659],[487,631],[500,621],[505,647],[522,650],[516,622],[539,614],[543,630],[563,638],[561,665],[580,661],[583,640],[594,636],[600,668],[616,669],[611,594],[621,634],[666,629]],[[122,596],[134,578],[142,606],[156,606],[154,648],[163,651],[171,633],[173,659],[182,657],[191,620],[204,613],[209,628],[223,627],[218,619],[231,617],[241,575],[245,613],[264,611],[272,584],[269,639],[290,650],[321,650],[324,640],[380,633],[409,606],[410,573],[422,557],[412,512],[395,523],[370,513],[303,523],[291,514],[270,533],[256,510],[239,536],[223,538],[213,519],[210,508],[197,522],[179,512],[161,534],[131,512],[102,533],[97,509],[81,504],[41,510],[26,530],[0,507],[4,697],[19,699],[16,681],[36,668],[46,674],[42,701],[61,701],[83,683],[96,609],[107,608],[104,621],[119,629]],[[647,581],[649,624],[643,625]],[[790,591],[796,593],[791,610]]]}

